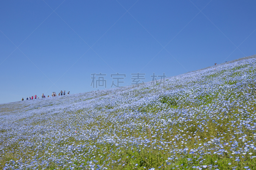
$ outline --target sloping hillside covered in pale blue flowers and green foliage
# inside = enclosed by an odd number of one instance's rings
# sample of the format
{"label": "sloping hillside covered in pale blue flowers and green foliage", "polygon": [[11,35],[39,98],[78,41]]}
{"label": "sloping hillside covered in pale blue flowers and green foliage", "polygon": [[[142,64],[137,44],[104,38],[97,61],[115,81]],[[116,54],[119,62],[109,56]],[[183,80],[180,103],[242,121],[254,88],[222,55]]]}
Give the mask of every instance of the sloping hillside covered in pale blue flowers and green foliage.
{"label": "sloping hillside covered in pale blue flowers and green foliage", "polygon": [[[0,105],[1,169],[255,169],[256,55]],[[253,168],[254,167],[254,168]]]}

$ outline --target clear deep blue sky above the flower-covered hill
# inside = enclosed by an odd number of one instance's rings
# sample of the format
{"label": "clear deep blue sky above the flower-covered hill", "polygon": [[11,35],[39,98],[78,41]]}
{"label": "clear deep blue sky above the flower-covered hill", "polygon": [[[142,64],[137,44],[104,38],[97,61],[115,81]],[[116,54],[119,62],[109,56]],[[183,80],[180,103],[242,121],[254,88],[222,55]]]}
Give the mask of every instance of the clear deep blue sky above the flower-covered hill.
{"label": "clear deep blue sky above the flower-covered hill", "polygon": [[131,73],[151,81],[153,72],[175,76],[254,55],[255,7],[231,0],[1,1],[0,103],[104,89],[90,86],[93,73],[107,74],[108,89],[116,72],[126,74],[125,86]]}

